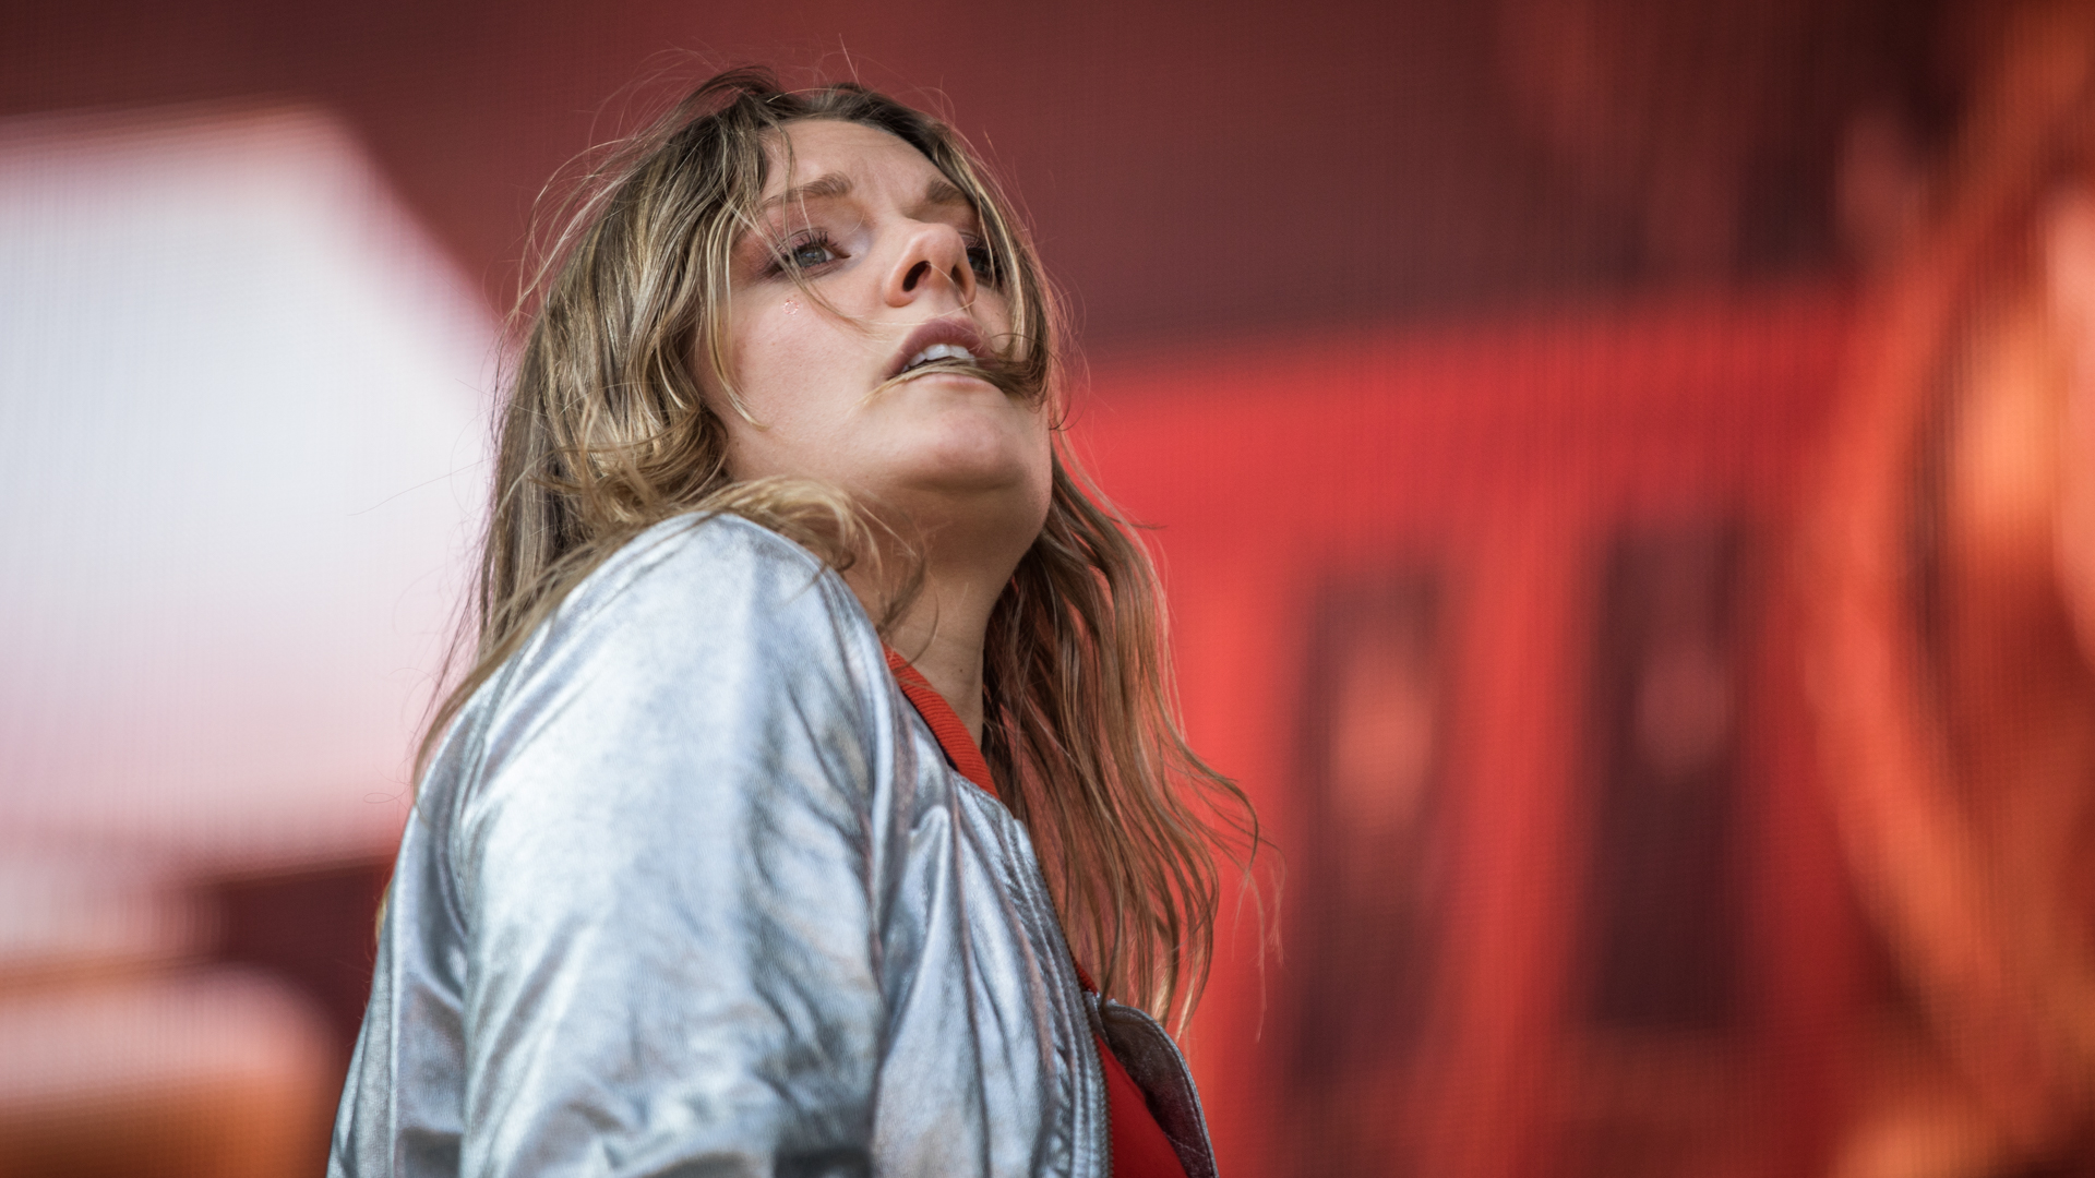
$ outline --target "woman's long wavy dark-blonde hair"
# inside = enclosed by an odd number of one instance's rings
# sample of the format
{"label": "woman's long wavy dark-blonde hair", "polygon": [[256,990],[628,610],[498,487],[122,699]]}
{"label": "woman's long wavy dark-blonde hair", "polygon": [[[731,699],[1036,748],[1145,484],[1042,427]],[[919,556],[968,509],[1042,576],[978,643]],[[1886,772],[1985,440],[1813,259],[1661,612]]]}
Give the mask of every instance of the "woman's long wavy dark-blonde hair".
{"label": "woman's long wavy dark-blonde hair", "polygon": [[[855,84],[714,75],[587,163],[553,205],[513,321],[522,348],[467,627],[473,664],[434,711],[423,765],[488,675],[652,524],[735,514],[838,570],[878,558],[882,524],[844,493],[729,476],[727,430],[693,371],[704,365],[744,413],[727,365],[729,258],[790,151],[784,130],[802,119],[895,134],[968,195],[1014,323],[1001,354],[968,371],[1060,409],[1056,302],[1012,205],[951,128]],[[1156,570],[1062,444],[1060,413],[1054,455],[1048,522],[989,620],[983,752],[1100,991],[1184,1025],[1213,958],[1217,861],[1249,880],[1257,817],[1184,740]],[[903,585],[876,618],[884,631],[909,579],[880,581]]]}

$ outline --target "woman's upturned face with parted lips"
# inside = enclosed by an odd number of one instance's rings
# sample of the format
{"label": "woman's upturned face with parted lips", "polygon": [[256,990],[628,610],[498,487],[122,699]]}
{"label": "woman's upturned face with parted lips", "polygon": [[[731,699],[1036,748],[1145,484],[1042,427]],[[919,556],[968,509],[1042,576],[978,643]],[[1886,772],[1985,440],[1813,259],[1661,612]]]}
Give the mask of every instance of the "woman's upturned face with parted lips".
{"label": "woman's upturned face with parted lips", "polygon": [[[1012,532],[1024,551],[1048,514],[1048,407],[916,369],[1010,346],[1010,302],[989,281],[972,205],[882,130],[809,119],[788,136],[792,172],[775,151],[760,233],[733,252],[727,371],[754,421],[708,390],[729,474],[817,478],[920,528]],[[781,254],[830,308],[794,285]]]}

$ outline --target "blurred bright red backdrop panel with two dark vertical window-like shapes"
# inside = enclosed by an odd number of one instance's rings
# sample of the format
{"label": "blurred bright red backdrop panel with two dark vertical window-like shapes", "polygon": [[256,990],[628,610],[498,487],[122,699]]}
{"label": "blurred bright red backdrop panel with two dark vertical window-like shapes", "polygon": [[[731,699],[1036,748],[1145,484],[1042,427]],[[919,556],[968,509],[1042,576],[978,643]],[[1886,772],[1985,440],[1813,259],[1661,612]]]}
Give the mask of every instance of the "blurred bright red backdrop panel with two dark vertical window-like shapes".
{"label": "blurred bright red backdrop panel with two dark vertical window-like shapes", "polygon": [[1785,549],[1823,289],[1102,367],[1194,746],[1284,868],[1190,1038],[1230,1174],[1823,1170],[1852,924]]}

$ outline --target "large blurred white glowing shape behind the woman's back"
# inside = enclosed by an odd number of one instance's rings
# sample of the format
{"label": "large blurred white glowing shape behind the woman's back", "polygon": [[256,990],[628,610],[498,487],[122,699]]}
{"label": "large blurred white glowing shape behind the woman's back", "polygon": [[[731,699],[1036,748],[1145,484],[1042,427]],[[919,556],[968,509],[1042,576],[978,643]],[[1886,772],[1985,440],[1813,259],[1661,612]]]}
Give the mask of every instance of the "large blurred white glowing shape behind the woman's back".
{"label": "large blurred white glowing shape behind the woman's back", "polygon": [[467,583],[494,327],[300,109],[0,124],[0,832],[360,851]]}

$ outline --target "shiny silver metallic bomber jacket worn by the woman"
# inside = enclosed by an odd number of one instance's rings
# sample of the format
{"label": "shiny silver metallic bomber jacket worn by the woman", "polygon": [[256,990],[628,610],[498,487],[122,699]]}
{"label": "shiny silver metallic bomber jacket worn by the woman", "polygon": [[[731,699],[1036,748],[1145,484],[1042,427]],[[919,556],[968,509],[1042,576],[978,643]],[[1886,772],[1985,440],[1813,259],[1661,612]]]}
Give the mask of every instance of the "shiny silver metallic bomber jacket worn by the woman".
{"label": "shiny silver metallic bomber jacket worn by the woman", "polygon": [[329,1176],[1106,1176],[1094,1033],[1211,1178],[1177,1048],[1081,987],[851,589],[685,516],[444,736]]}

